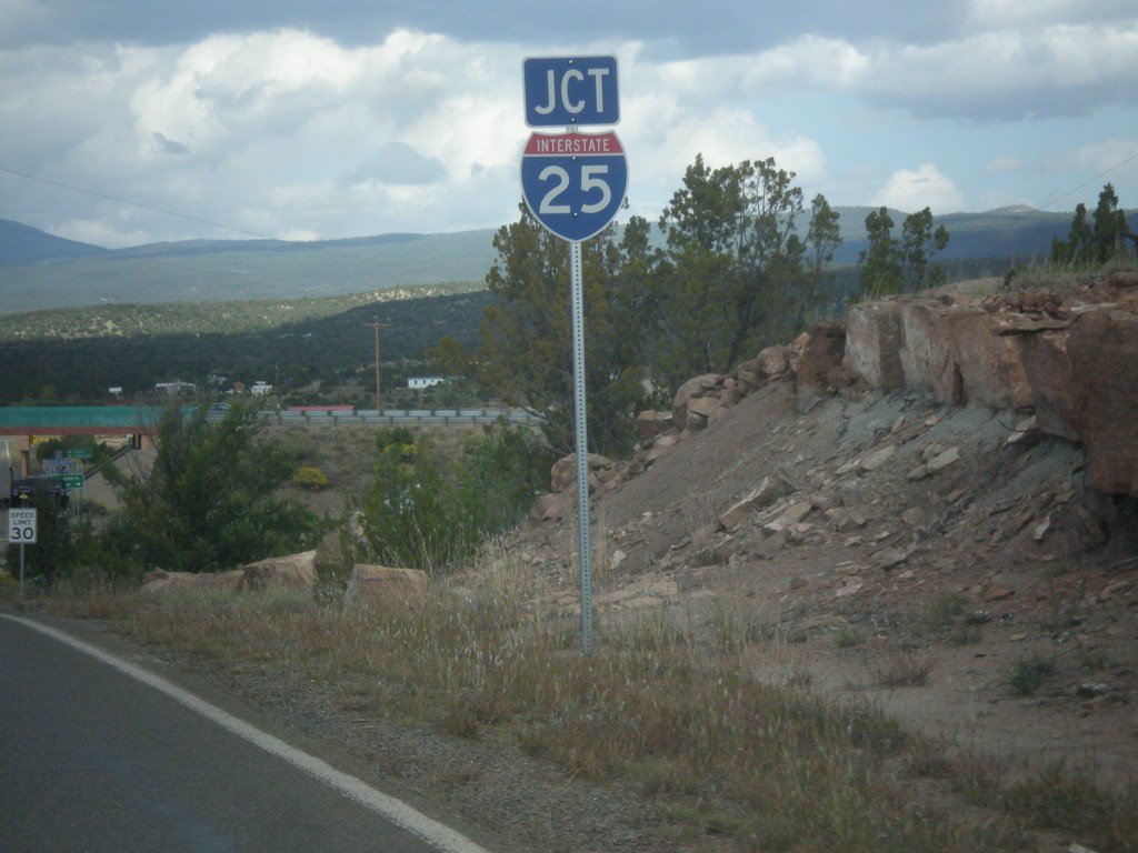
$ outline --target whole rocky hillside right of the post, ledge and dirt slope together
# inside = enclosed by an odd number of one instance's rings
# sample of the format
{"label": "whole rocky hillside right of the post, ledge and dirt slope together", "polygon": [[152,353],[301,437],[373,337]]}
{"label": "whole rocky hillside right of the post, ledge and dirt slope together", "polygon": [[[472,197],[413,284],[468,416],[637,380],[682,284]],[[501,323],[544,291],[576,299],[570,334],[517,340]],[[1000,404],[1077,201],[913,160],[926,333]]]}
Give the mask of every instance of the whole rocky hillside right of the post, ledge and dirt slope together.
{"label": "whole rocky hillside right of the post, ledge and dirt slope together", "polygon": [[[772,680],[1132,775],[1138,276],[1000,285],[857,306],[644,413],[635,459],[591,459],[601,629],[740,608]],[[519,547],[572,606],[561,467]]]}

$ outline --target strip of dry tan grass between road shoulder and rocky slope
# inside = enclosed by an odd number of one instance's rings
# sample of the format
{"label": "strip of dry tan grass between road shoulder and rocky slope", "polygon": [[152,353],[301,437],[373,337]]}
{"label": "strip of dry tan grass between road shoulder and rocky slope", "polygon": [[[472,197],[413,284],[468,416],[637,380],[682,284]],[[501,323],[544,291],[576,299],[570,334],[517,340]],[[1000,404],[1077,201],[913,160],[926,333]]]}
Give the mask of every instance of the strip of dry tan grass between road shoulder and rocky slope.
{"label": "strip of dry tan grass between road shoulder and rocky slope", "polygon": [[[702,621],[661,610],[599,624],[585,659],[576,614],[502,550],[413,602],[196,591],[85,606],[147,641],[338,684],[355,715],[382,709],[459,737],[495,727],[569,777],[630,780],[688,850],[1012,851],[1030,827],[1136,850],[1133,788],[1054,771],[1001,787],[873,707],[761,684],[747,664],[758,638],[729,604]],[[920,655],[898,661],[906,684],[927,676]]]}

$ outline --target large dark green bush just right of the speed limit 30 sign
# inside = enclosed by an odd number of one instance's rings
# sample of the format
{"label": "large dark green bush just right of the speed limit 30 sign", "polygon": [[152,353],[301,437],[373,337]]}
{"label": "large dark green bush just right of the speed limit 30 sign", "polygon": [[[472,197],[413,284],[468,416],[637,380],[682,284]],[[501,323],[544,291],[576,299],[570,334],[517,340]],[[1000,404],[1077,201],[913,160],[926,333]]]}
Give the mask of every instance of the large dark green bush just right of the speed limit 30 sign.
{"label": "large dark green bush just right of the speed limit 30 sign", "polygon": [[212,572],[312,547],[320,523],[300,504],[277,497],[292,461],[261,437],[257,409],[234,404],[216,423],[208,412],[204,405],[166,408],[147,475],[107,469],[132,556],[147,568]]}

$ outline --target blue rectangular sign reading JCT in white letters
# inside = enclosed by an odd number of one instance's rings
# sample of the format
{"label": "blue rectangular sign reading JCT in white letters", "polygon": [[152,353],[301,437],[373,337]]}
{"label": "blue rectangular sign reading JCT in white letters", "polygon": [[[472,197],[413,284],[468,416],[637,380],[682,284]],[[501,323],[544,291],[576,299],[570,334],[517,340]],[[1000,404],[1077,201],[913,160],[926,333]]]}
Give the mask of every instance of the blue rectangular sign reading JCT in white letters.
{"label": "blue rectangular sign reading JCT in white letters", "polygon": [[544,57],[522,64],[526,124],[530,127],[580,127],[618,124],[617,58]]}

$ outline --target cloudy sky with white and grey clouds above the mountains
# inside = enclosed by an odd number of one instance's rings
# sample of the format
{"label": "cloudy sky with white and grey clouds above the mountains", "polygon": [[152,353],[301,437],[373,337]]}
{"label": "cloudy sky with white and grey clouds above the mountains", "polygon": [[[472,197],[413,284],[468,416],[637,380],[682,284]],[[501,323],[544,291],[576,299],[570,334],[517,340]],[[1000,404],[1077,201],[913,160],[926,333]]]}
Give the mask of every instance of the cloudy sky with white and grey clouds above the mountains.
{"label": "cloudy sky with white and grey clouds above the mountains", "polygon": [[1138,207],[1133,0],[0,0],[0,218],[107,247],[497,227],[523,58],[587,55],[618,58],[652,221],[696,154],[833,205]]}

